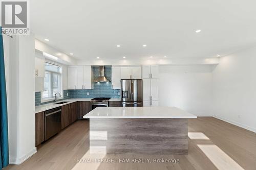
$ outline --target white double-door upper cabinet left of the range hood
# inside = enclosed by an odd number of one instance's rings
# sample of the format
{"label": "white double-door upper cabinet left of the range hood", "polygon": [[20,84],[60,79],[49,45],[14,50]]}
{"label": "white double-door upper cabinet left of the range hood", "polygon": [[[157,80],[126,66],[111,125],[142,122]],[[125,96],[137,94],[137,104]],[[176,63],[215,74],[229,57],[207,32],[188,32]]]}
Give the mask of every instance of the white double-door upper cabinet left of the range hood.
{"label": "white double-door upper cabinet left of the range hood", "polygon": [[68,68],[69,89],[93,89],[91,66],[71,66]]}

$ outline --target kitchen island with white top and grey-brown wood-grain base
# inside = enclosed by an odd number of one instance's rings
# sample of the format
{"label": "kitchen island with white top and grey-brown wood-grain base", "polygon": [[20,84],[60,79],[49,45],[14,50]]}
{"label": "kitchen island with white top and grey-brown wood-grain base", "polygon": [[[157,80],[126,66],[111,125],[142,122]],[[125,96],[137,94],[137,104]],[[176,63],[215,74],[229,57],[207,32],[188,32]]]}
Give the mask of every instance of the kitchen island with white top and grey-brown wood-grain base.
{"label": "kitchen island with white top and grey-brown wood-grain base", "polygon": [[90,153],[187,154],[187,121],[176,107],[97,107],[90,118]]}

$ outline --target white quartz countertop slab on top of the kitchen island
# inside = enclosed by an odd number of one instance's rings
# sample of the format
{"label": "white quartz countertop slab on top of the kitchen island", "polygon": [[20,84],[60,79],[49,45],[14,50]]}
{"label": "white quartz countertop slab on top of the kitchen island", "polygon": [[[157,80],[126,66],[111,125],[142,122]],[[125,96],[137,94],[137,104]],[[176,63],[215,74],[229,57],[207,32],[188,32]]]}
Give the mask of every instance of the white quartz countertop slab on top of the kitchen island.
{"label": "white quartz countertop slab on top of the kitchen island", "polygon": [[197,118],[177,107],[97,107],[83,118]]}

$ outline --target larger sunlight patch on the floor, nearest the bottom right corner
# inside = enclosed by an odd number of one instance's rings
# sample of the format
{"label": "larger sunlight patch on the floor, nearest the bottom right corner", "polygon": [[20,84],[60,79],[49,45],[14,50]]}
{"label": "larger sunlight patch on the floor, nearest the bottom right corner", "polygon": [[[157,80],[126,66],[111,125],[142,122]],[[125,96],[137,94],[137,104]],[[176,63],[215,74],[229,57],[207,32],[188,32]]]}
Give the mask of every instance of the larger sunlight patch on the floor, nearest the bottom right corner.
{"label": "larger sunlight patch on the floor, nearest the bottom right corner", "polygon": [[236,161],[230,158],[215,144],[198,144],[198,147],[219,170],[243,169]]}

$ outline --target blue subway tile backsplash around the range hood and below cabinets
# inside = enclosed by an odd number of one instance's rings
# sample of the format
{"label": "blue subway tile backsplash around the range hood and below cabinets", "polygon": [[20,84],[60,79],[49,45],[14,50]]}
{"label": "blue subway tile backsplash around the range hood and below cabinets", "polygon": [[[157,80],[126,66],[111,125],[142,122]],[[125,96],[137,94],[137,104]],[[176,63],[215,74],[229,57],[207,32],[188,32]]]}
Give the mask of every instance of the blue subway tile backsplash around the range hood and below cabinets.
{"label": "blue subway tile backsplash around the range hood and below cabinets", "polygon": [[[93,66],[94,79],[99,76],[99,66]],[[105,66],[105,77],[111,81],[111,66]],[[69,93],[69,96],[67,95]],[[89,93],[89,95],[87,95]],[[70,98],[120,98],[120,89],[112,89],[111,82],[96,83],[92,90],[63,90],[63,99]],[[35,105],[43,105],[50,102],[41,103],[41,92],[35,92]]]}

